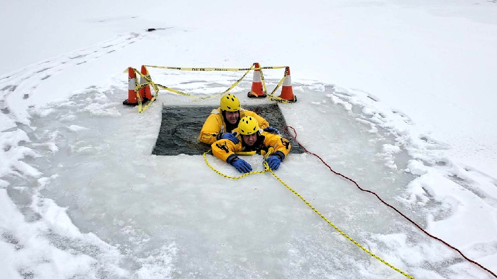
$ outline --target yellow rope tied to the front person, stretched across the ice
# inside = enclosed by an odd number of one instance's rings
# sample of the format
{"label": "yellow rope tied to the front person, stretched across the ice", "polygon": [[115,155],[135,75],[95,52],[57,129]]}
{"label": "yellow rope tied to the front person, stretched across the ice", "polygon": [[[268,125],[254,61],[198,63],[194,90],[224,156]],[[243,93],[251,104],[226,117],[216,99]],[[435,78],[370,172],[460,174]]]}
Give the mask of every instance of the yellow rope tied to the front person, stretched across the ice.
{"label": "yellow rope tied to the front person, stretched across the ice", "polygon": [[205,154],[207,154],[209,151],[211,150],[208,150],[207,152],[205,152],[203,154],[204,156],[204,160],[205,160],[205,163],[212,169],[214,170],[214,172],[216,172],[217,174],[221,175],[221,176],[224,176],[226,178],[231,178],[231,179],[240,179],[240,178],[243,178],[243,177],[246,177],[250,174],[255,174],[255,173],[265,173],[265,172],[270,172],[281,184],[283,184],[288,190],[290,190],[293,194],[295,194],[297,197],[299,197],[308,207],[310,207],[314,212],[316,212],[316,214],[318,214],[321,218],[323,218],[328,224],[330,224],[336,231],[338,231],[341,235],[343,235],[345,238],[347,238],[348,240],[350,240],[352,243],[354,243],[357,247],[361,248],[364,252],[368,253],[370,256],[372,256],[373,258],[377,259],[378,261],[384,263],[385,265],[387,265],[388,267],[390,267],[391,269],[395,270],[396,272],[404,275],[405,277],[409,278],[409,279],[414,279],[414,277],[410,276],[409,274],[403,272],[402,270],[394,267],[393,265],[387,263],[385,260],[383,260],[382,258],[376,256],[375,254],[371,253],[371,251],[369,251],[368,249],[366,249],[364,246],[360,245],[359,243],[357,243],[357,241],[353,240],[350,236],[348,236],[346,233],[344,233],[343,231],[341,231],[337,226],[335,226],[327,217],[325,217],[325,215],[323,215],[321,212],[318,211],[318,209],[316,209],[315,207],[313,207],[306,199],[304,199],[304,197],[302,197],[299,193],[297,193],[297,191],[293,190],[290,186],[288,186],[288,184],[286,184],[285,182],[283,182],[283,180],[281,180],[281,178],[279,178],[274,172],[272,169],[269,168],[269,165],[267,164],[266,161],[263,161],[263,164],[264,164],[264,170],[263,171],[252,171],[252,172],[249,172],[249,173],[246,173],[242,176],[228,176],[226,174],[223,174],[222,172],[218,171],[217,169],[215,169],[211,164],[209,164],[209,161],[207,160],[207,156]]}

